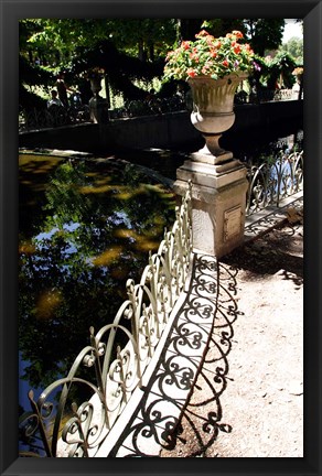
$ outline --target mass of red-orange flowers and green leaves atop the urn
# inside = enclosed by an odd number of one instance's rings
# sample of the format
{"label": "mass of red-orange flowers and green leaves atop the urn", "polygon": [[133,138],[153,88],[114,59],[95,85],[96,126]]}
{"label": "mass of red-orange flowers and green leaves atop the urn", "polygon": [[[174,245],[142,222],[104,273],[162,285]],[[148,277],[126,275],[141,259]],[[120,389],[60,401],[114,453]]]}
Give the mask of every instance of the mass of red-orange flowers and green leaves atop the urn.
{"label": "mass of red-orange flowers and green leaves atop the urn", "polygon": [[196,76],[219,79],[234,73],[248,74],[256,67],[249,44],[239,43],[244,37],[239,31],[214,37],[202,30],[195,37],[194,42],[183,41],[168,53],[164,79],[187,80]]}

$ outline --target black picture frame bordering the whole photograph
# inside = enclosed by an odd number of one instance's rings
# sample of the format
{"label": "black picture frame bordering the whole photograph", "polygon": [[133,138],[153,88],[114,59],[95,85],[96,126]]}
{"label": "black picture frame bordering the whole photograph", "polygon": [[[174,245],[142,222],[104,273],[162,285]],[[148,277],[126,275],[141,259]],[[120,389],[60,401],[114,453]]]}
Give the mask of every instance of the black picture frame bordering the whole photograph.
{"label": "black picture frame bordering the whole photograph", "polygon": [[[321,0],[0,0],[1,31],[1,475],[320,475],[321,473]],[[22,18],[304,19],[304,457],[18,457],[18,21]]]}

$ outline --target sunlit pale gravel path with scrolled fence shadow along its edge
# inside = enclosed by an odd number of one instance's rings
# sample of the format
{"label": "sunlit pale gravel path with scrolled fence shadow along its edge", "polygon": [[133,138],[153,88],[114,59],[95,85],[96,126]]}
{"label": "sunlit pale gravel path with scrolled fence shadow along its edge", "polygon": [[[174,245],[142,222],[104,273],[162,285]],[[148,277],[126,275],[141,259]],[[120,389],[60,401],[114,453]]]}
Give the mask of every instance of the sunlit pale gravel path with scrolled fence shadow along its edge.
{"label": "sunlit pale gravel path with scrolled fence shadow along its edge", "polygon": [[300,213],[222,260],[218,324],[161,457],[303,457],[302,258]]}

